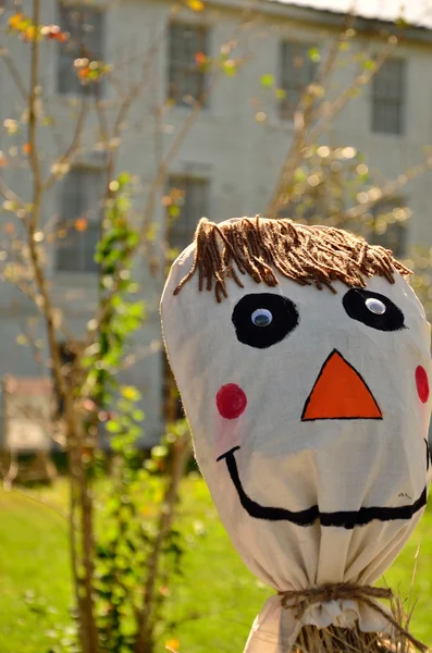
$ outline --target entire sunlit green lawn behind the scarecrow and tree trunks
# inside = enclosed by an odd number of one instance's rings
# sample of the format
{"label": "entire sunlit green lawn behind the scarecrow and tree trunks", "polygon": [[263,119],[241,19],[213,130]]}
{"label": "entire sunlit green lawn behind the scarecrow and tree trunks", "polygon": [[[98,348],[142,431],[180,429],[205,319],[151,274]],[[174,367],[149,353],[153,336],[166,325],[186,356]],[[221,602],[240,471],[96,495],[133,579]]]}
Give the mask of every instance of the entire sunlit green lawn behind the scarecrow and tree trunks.
{"label": "entire sunlit green lawn behind the scarecrow and tree trunks", "polygon": [[[42,492],[0,491],[1,653],[48,653],[50,636],[70,623],[67,532],[61,514],[65,504],[61,481]],[[239,653],[271,590],[243,565],[200,479],[188,479],[183,485],[182,529],[186,538],[183,575],[169,588],[171,624],[158,653],[165,650],[169,639],[180,641],[181,653]],[[408,596],[420,538],[412,631],[432,642],[432,509],[385,579]]]}

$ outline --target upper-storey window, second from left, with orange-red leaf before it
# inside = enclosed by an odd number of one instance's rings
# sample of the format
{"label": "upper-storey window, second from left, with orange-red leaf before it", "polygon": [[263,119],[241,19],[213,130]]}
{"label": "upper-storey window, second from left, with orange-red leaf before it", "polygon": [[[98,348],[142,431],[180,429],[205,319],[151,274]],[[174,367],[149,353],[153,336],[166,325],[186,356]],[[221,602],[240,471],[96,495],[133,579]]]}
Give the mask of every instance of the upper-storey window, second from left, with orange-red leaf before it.
{"label": "upper-storey window, second from left, with orange-red leaf before it", "polygon": [[[201,100],[206,91],[206,72],[199,56],[208,54],[208,30],[200,25],[172,23],[169,34],[168,96],[177,106]],[[202,99],[206,103],[205,99]]]}

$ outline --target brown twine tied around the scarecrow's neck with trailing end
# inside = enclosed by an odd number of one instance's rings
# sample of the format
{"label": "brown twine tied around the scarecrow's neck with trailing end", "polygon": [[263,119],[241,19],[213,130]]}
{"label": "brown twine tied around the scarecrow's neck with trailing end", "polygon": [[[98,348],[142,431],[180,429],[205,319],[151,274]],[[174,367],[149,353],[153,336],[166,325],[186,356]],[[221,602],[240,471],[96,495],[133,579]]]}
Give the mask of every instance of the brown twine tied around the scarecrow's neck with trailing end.
{"label": "brown twine tied around the scarecrow's neck with trailing end", "polygon": [[357,601],[368,605],[381,616],[383,616],[395,630],[405,637],[416,649],[425,653],[428,646],[420,640],[416,639],[406,630],[396,619],[390,615],[375,599],[385,599],[392,601],[394,594],[391,589],[374,588],[372,586],[357,586],[349,582],[326,583],[319,588],[308,588],[306,590],[292,590],[287,592],[279,592],[281,596],[281,605],[284,609],[295,611],[295,617],[300,619],[305,611],[311,605],[326,603],[329,601]]}

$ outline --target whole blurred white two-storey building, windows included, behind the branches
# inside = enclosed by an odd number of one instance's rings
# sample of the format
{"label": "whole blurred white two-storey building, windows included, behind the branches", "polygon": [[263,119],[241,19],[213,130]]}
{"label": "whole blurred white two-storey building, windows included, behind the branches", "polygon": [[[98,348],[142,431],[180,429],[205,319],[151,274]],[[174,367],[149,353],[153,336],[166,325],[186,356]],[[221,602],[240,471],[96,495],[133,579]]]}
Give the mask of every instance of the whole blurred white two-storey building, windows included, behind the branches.
{"label": "whole blurred white two-storey building, windows included, behind the branches", "polygon": [[[65,337],[83,337],[97,305],[92,254],[104,183],[104,124],[112,127],[119,99],[126,97],[131,85],[141,76],[139,97],[132,103],[127,126],[122,132],[116,165],[118,171],[127,170],[139,177],[139,189],[134,196],[137,219],[144,214],[155,171],[164,157],[169,158],[168,174],[151,213],[158,237],[151,243],[151,256],[143,257],[137,266],[148,320],[134,343],[138,360],[123,373],[125,382],[136,384],[143,392],[147,442],[155,442],[163,429],[164,357],[158,313],[163,271],[160,264],[155,269],[148,261],[160,260],[158,238],[166,217],[162,196],[171,197],[168,201],[174,205],[176,197],[181,200],[174,211],[180,217],[171,229],[172,243],[177,247],[190,239],[201,215],[219,221],[262,212],[293,139],[293,109],[299,89],[313,78],[319,51],[323,53],[331,47],[343,16],[331,11],[332,7],[340,7],[331,0],[316,0],[324,9],[304,7],[303,1],[213,0],[205,12],[182,5],[176,13],[164,0],[122,0],[111,8],[109,2],[95,0],[83,3],[82,10],[78,3],[71,2],[44,0],[41,4],[41,22],[60,24],[71,33],[71,44],[79,45],[64,48],[54,39],[41,45],[38,143],[46,175],[61,148],[72,143],[83,98],[88,104],[79,156],[62,181],[47,193],[44,204],[46,241],[48,233],[75,225],[47,245],[47,273],[53,300],[63,315],[59,324],[65,324]],[[24,1],[22,11],[29,15],[32,3]],[[7,9],[3,24],[10,15]],[[381,33],[391,25],[381,17],[358,17],[345,64],[336,66],[332,77],[334,96],[354,79],[361,52],[369,52],[373,59],[382,51]],[[4,124],[0,149],[8,165],[2,168],[1,176],[3,185],[29,202],[32,186],[23,114],[26,86],[23,93],[16,79],[28,85],[30,46],[11,35],[4,37],[4,48],[8,54],[0,69],[0,116]],[[91,59],[114,64],[112,82],[98,84],[99,111],[92,91],[81,85],[72,65],[86,51],[91,52]],[[217,67],[224,66],[224,73],[206,71],[209,59],[219,62]],[[242,61],[234,76],[231,60]],[[432,141],[431,62],[432,33],[425,25],[406,27],[400,45],[379,76],[350,100],[321,141],[361,150],[383,178],[395,178],[421,162],[424,146]],[[270,79],[270,84],[263,83]],[[274,88],[282,93],[274,93]],[[172,153],[173,144],[190,119],[190,97],[203,91],[205,108]],[[396,234],[399,254],[414,244],[432,245],[430,178],[430,174],[419,176],[394,198],[395,206],[409,207],[414,215],[407,230],[396,233],[396,224],[387,234]],[[176,189],[174,199],[170,188]],[[1,214],[3,237],[13,239],[18,234],[11,231],[8,201],[11,199],[7,199]],[[83,215],[85,230],[76,223]],[[0,289],[0,375],[46,375],[42,323],[23,292],[4,282]],[[40,354],[36,359],[33,346],[20,344],[23,333],[30,343],[37,343]]]}

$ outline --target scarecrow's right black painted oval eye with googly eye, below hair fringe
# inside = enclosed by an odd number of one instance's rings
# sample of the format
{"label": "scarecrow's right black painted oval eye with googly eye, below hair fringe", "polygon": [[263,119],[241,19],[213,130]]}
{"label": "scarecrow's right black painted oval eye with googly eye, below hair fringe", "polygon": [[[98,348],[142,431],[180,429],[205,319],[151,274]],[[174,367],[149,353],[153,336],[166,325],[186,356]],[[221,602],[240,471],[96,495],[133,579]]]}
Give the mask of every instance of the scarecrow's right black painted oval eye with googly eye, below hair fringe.
{"label": "scarecrow's right black painted oval eye with googly eye, below hair fringe", "polygon": [[406,329],[405,317],[400,308],[385,295],[365,288],[348,291],[342,304],[353,320],[379,331],[399,331]]}

